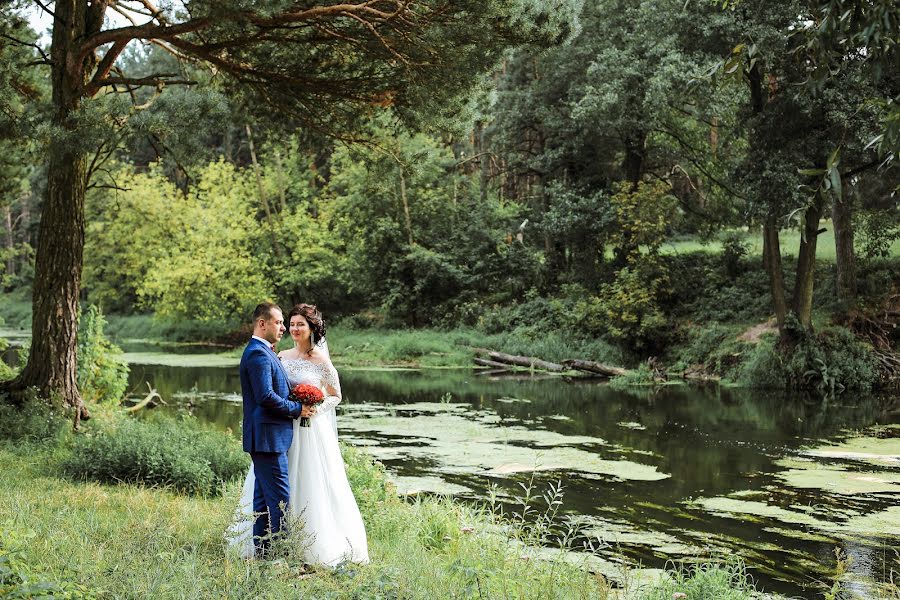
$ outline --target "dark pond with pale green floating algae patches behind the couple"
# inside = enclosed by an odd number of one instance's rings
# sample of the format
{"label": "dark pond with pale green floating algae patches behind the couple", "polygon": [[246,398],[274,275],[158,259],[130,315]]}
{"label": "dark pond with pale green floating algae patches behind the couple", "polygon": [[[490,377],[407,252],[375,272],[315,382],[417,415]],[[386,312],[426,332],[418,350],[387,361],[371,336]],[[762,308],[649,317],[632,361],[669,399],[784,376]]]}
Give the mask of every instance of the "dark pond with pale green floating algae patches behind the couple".
{"label": "dark pond with pale green floating algae patches behind the couple", "polygon": [[[132,349],[136,396],[149,382],[167,410],[239,432],[236,358]],[[516,511],[521,483],[543,494],[561,482],[560,529],[607,566],[739,554],[764,589],[793,596],[821,596],[836,549],[863,597],[900,570],[896,399],[338,369],[341,438],[401,493],[496,494]]]}

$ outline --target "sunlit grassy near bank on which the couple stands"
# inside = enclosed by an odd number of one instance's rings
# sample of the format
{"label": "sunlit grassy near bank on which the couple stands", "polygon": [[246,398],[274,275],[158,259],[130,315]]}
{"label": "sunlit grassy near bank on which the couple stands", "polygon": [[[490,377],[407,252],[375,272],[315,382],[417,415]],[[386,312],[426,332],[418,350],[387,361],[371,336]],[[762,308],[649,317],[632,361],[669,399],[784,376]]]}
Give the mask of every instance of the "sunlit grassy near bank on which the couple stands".
{"label": "sunlit grassy near bank on which the couple stands", "polygon": [[10,566],[2,593],[45,583],[67,598],[758,597],[735,561],[693,579],[607,565],[614,584],[590,554],[531,544],[557,525],[552,507],[532,507],[550,519],[536,526],[446,498],[402,499],[351,447],[344,458],[372,563],[306,572],[290,557],[246,562],[223,539],[239,481],[213,497],[80,481],[62,472],[72,434],[54,435],[0,441],[0,561]]}

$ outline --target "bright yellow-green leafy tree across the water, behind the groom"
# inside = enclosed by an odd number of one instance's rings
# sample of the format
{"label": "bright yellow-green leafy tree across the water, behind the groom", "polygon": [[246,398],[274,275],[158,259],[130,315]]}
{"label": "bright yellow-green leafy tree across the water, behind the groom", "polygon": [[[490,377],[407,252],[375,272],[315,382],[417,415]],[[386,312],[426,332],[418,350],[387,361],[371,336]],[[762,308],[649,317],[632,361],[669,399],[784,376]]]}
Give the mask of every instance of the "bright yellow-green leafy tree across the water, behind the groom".
{"label": "bright yellow-green leafy tree across the water, behind the groom", "polygon": [[272,296],[264,259],[253,253],[264,232],[249,171],[210,163],[187,193],[158,172],[125,171],[117,179],[127,193],[104,190],[89,202],[85,279],[92,299],[235,327]]}

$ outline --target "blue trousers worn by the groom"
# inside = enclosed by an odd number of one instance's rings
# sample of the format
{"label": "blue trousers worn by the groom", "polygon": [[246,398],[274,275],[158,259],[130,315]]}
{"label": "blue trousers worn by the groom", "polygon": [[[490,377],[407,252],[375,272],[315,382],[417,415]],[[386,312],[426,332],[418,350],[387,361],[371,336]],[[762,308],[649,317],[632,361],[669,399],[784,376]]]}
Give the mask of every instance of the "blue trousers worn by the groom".
{"label": "blue trousers worn by the groom", "polygon": [[284,525],[282,506],[286,508],[290,501],[287,452],[252,452],[250,458],[256,478],[253,512],[257,517],[253,522],[253,545],[257,554],[265,554],[271,538]]}

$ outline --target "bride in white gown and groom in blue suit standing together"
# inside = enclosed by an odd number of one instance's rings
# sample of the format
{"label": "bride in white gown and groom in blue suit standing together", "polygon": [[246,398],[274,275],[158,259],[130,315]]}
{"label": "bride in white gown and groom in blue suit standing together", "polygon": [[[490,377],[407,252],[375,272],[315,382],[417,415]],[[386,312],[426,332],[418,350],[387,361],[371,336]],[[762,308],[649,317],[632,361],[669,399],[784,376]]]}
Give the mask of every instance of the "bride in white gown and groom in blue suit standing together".
{"label": "bride in white gown and groom in blue suit standing together", "polygon": [[[229,541],[244,558],[265,557],[292,516],[297,518],[291,523],[303,528],[305,562],[368,562],[365,527],[337,442],[334,409],[341,386],[325,322],[310,304],[298,304],[287,318],[294,347],[276,355],[284,316],[275,304],[257,306],[253,337],[241,357],[244,451],[253,464],[241,494],[242,517]],[[310,407],[289,399],[290,389],[301,383],[319,388],[324,401]],[[300,417],[309,417],[308,427],[300,426]]]}

